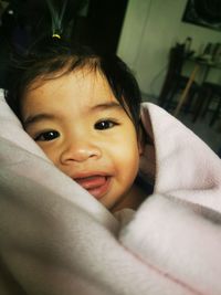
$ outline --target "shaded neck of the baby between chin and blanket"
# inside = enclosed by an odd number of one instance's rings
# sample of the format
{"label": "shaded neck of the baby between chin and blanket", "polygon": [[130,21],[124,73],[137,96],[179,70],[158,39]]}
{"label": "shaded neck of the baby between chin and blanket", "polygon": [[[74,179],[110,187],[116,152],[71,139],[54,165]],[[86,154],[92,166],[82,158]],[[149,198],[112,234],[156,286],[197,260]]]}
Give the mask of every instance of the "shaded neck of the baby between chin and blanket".
{"label": "shaded neck of the baby between chin and blanket", "polygon": [[129,191],[125,194],[123,200],[117,203],[110,211],[114,213],[125,208],[137,210],[146,198],[147,193],[145,193],[145,191],[140,187],[134,183]]}

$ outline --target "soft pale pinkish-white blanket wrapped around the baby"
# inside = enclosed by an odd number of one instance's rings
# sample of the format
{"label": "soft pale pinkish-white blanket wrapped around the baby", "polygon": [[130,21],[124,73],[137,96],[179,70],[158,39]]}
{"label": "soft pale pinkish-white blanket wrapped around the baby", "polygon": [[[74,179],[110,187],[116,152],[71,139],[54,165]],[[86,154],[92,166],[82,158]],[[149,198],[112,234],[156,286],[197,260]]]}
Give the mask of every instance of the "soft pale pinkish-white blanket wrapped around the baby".
{"label": "soft pale pinkish-white blanket wrapped around the baby", "polygon": [[[221,161],[152,104],[152,196],[112,215],[59,171],[0,99],[1,295],[220,295]],[[146,147],[143,173],[155,170]]]}

